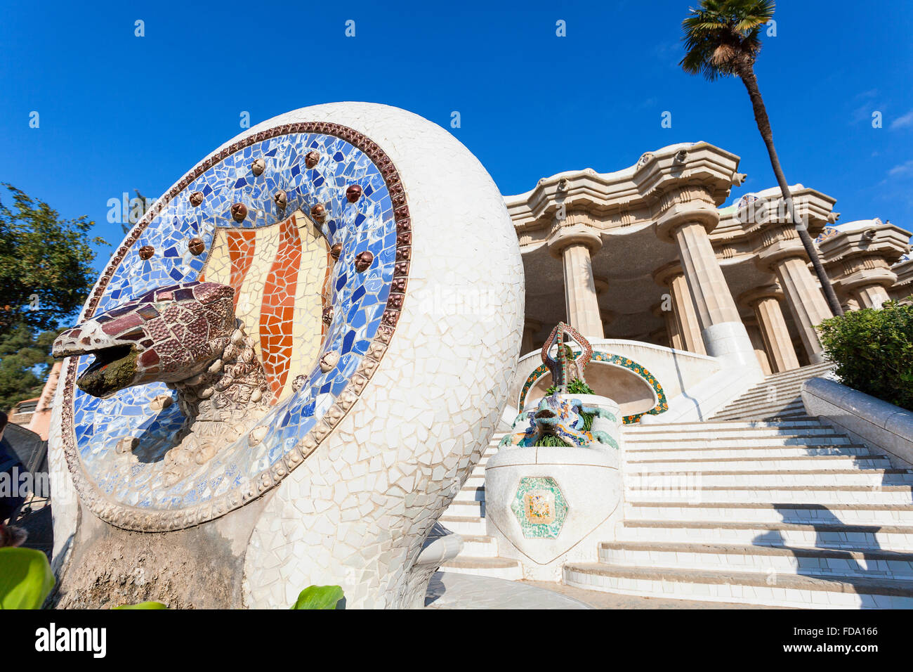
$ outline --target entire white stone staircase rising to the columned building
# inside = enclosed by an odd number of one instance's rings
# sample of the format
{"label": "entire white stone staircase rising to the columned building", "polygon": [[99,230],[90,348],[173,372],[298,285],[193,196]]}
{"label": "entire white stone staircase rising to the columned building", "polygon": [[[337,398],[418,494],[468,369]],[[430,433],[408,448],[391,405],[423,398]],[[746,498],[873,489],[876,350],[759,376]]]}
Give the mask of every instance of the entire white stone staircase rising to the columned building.
{"label": "entire white stone staircase rising to the columned building", "polygon": [[[803,608],[913,608],[913,470],[892,468],[797,407],[771,376],[727,420],[624,428],[624,522],[589,590]],[[792,376],[790,374],[793,374]],[[773,400],[759,389],[775,386]],[[777,417],[775,421],[741,420]]]}

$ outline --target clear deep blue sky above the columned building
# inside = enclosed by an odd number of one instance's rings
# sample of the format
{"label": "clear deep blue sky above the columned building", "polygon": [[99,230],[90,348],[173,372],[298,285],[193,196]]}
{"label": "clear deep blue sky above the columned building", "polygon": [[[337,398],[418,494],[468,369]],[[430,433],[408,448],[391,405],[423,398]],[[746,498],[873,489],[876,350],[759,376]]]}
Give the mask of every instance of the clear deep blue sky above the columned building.
{"label": "clear deep blue sky above the columned building", "polygon": [[[64,217],[88,215],[113,245],[122,233],[106,221],[108,200],[161,195],[242,130],[241,112],[253,125],[375,101],[448,129],[459,112],[451,133],[505,194],[697,140],[741,156],[749,179],[733,196],[772,187],[740,81],[708,83],[677,65],[694,4],[5,3],[0,180]],[[841,221],[913,229],[911,17],[908,0],[782,2],[777,35],[765,37],[756,71],[786,176],[835,197]]]}

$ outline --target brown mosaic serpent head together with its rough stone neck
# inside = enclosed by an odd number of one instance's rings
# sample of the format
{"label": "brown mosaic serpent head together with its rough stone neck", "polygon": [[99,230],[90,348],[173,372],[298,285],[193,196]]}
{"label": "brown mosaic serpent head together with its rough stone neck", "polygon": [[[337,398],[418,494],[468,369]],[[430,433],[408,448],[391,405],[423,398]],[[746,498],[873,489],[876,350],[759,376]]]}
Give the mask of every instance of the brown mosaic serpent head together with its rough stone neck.
{"label": "brown mosaic serpent head together with its rough stone neck", "polygon": [[[254,340],[235,317],[234,297],[233,288],[219,283],[160,287],[68,329],[54,342],[54,357],[95,356],[76,381],[94,397],[154,381],[177,391],[186,420],[165,456],[165,485],[247,432],[250,443],[257,443],[255,426],[272,395]],[[128,439],[118,449],[131,450],[135,442]]]}

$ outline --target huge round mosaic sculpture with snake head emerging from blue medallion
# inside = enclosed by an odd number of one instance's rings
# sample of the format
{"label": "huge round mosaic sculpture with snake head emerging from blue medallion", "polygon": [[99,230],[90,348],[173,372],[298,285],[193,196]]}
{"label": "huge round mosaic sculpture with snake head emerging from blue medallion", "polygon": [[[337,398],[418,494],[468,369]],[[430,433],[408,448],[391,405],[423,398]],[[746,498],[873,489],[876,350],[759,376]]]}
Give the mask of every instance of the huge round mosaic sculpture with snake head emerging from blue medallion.
{"label": "huge round mosaic sculpture with snake head emerging from blue medallion", "polygon": [[58,605],[421,604],[508,397],[522,278],[488,173],[409,112],[304,108],[207,156],[55,344]]}

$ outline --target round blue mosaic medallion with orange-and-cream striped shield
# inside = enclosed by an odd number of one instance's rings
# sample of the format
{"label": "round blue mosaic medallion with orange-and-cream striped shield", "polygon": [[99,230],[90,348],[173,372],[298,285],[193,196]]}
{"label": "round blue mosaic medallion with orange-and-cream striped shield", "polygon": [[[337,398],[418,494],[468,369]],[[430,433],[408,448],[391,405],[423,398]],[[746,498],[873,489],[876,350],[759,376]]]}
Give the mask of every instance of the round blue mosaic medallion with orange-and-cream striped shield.
{"label": "round blue mosaic medallion with orange-and-cream striped shield", "polygon": [[191,343],[192,304],[156,315],[142,327],[158,329],[142,349],[144,384],[107,394],[99,383],[95,396],[77,379],[99,378],[110,371],[105,357],[122,353],[67,360],[63,437],[82,500],[113,525],[164,530],[221,516],[277,485],[352,408],[383,357],[403,306],[410,236],[395,166],[339,124],[279,126],[196,166],[131,230],[80,324],[116,322],[128,308],[143,322],[184,293],[227,292],[238,328],[218,341],[225,356],[213,368],[233,368],[213,373],[215,390],[243,382],[243,400],[256,396],[263,415],[169,472],[166,456],[188,426],[186,400],[213,392],[159,370],[159,358]]}

